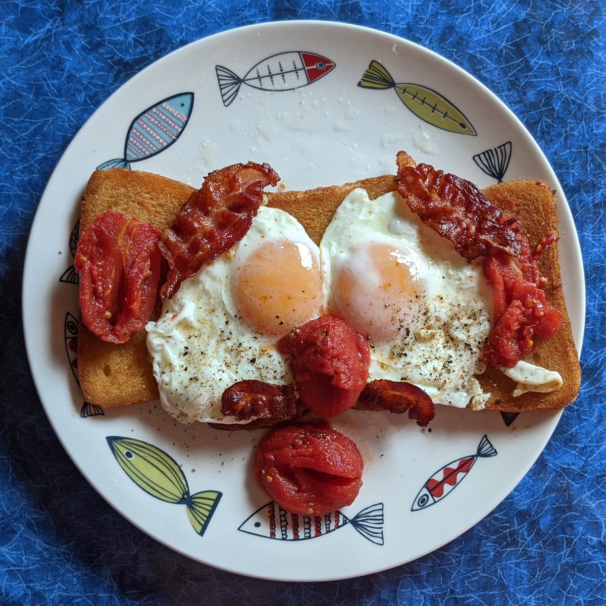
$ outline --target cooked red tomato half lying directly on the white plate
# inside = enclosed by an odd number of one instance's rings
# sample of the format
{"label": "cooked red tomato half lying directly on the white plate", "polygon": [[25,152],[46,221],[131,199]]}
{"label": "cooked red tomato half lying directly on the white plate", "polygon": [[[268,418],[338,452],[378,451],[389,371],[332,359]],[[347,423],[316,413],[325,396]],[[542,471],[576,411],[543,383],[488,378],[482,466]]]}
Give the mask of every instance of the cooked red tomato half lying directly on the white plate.
{"label": "cooked red tomato half lying directly on the white plate", "polygon": [[319,516],[353,503],[363,468],[353,441],[323,421],[268,433],[257,450],[255,478],[285,510]]}

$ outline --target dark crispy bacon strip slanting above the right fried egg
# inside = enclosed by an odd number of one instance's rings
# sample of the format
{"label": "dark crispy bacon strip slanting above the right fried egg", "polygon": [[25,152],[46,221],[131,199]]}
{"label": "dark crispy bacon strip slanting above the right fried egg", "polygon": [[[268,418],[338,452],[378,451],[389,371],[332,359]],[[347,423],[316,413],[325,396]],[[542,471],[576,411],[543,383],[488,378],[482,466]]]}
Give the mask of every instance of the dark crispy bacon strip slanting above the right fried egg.
{"label": "dark crispy bacon strip slanting above the right fried egg", "polygon": [[429,164],[415,165],[405,151],[397,162],[396,185],[408,208],[453,242],[461,256],[471,261],[496,253],[520,255],[519,222],[490,204],[476,185]]}

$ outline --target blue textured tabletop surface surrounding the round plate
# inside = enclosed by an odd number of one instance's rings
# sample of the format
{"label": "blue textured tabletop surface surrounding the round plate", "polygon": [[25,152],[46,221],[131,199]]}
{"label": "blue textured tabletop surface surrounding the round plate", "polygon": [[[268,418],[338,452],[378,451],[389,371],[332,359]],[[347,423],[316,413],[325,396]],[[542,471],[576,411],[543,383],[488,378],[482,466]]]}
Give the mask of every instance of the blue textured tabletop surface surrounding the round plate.
{"label": "blue textured tabletop surface surrounding the round plate", "polygon": [[[0,603],[606,604],[606,27],[601,0],[4,1],[0,12]],[[348,21],[418,42],[493,90],[553,165],[579,230],[588,320],[581,396],[484,521],[416,562],[349,581],[247,579],[124,521],[55,437],[21,328],[27,235],[65,147],[141,68],[188,42],[279,19]]]}

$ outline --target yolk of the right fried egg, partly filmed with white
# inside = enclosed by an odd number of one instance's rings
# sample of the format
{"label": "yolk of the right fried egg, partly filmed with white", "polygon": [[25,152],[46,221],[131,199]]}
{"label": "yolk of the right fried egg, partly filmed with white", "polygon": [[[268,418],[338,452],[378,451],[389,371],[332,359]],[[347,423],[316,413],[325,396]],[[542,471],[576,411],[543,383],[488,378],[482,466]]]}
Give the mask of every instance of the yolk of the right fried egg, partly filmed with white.
{"label": "yolk of the right fried egg, partly filmed with white", "polygon": [[411,258],[388,244],[374,243],[337,268],[330,307],[361,335],[387,342],[415,321],[423,290]]}

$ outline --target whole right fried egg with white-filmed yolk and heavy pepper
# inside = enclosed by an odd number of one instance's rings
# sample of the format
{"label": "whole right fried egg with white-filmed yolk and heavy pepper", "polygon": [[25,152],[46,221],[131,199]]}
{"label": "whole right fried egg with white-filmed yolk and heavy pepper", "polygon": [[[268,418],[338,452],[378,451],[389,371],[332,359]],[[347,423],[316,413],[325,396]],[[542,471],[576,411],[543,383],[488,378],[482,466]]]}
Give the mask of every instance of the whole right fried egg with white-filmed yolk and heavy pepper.
{"label": "whole right fried egg with white-filmed yolk and heavy pepper", "polygon": [[492,321],[481,261],[463,259],[396,192],[353,191],[320,244],[324,307],[368,338],[370,381],[410,382],[436,404],[482,408],[474,375]]}

